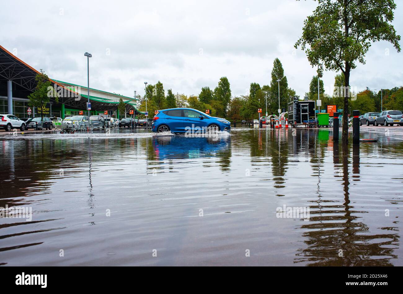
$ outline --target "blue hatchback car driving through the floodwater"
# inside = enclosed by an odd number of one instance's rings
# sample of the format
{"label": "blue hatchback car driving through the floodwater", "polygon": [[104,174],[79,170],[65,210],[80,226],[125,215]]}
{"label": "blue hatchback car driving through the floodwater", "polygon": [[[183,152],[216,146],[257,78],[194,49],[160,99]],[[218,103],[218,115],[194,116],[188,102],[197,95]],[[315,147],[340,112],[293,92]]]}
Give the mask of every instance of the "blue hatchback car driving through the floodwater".
{"label": "blue hatchback car driving through the floodwater", "polygon": [[153,132],[208,132],[231,131],[231,123],[226,119],[212,117],[192,108],[171,108],[159,110],[154,115]]}

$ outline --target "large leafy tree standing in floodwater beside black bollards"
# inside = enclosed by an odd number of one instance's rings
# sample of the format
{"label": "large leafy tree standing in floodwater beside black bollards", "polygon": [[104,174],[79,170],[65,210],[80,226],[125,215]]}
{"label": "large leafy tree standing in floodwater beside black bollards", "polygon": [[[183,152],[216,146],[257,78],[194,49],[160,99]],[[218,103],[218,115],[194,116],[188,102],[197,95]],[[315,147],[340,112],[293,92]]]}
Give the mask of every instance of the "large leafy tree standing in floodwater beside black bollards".
{"label": "large leafy tree standing in floodwater beside black bollards", "polygon": [[[400,36],[390,24],[395,8],[393,0],[318,0],[316,10],[304,21],[295,48],[305,50],[312,66],[323,63],[326,70],[341,70],[350,89],[350,72],[357,62],[365,64],[372,42],[389,41],[400,52]],[[347,92],[345,110],[349,107]],[[347,115],[343,115],[342,141],[348,144]]]}

